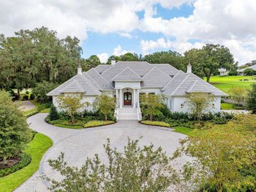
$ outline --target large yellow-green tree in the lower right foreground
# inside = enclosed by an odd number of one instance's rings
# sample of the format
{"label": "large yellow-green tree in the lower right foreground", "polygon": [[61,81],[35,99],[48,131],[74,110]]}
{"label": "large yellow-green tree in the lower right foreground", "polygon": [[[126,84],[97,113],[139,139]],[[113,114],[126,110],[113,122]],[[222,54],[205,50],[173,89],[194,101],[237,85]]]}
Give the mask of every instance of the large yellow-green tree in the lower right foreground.
{"label": "large yellow-green tree in the lower right foreground", "polygon": [[[193,157],[182,172],[184,182],[193,183],[195,191],[255,191],[256,139],[247,127],[255,127],[256,116],[244,116],[237,116],[221,130],[212,127],[180,142],[174,157]],[[253,120],[244,126],[248,119]]]}

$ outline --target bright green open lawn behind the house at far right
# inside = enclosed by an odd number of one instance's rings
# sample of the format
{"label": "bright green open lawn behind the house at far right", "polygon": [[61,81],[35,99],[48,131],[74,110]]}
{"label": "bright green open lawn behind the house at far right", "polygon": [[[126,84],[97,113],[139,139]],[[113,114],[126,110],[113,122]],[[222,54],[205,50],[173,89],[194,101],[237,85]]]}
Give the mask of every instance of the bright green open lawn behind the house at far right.
{"label": "bright green open lawn behind the house at far right", "polygon": [[[239,81],[239,79],[248,79],[249,81]],[[256,83],[256,76],[212,76],[210,83],[221,91],[228,93],[232,86],[241,86],[250,89],[252,83]]]}

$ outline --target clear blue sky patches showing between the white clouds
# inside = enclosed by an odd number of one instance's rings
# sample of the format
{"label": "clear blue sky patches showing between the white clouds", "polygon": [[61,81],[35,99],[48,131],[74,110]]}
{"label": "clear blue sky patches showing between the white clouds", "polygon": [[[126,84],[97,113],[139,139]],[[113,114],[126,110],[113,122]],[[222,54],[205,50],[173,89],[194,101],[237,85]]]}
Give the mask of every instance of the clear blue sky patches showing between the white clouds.
{"label": "clear blue sky patches showing between the white clouds", "polygon": [[[161,4],[154,5],[156,9],[155,18],[161,17],[166,20],[173,19],[175,17],[189,17],[193,14],[193,4],[182,4],[180,7],[163,8]],[[144,18],[145,11],[136,12],[139,19]],[[100,54],[102,52],[108,53],[109,56],[113,54],[113,50],[117,45],[122,47],[122,50],[128,52],[136,52],[137,54],[143,54],[140,47],[141,40],[154,40],[159,38],[167,38],[168,40],[175,40],[175,36],[166,36],[163,33],[143,32],[140,30],[134,30],[129,33],[132,37],[127,38],[121,36],[118,33],[97,33],[88,31],[88,38],[82,42],[83,57],[88,58],[93,54]],[[200,40],[191,39],[191,43],[199,42]],[[150,52],[156,51],[168,51],[170,48],[158,48]]]}

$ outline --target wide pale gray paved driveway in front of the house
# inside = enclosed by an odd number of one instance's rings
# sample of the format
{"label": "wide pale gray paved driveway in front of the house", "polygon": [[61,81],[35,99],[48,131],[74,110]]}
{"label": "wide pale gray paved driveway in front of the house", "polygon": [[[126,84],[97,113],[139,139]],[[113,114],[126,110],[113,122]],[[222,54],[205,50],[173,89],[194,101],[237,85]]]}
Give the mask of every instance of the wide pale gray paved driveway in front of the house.
{"label": "wide pale gray paved driveway in front of the house", "polygon": [[[65,153],[65,160],[68,164],[81,166],[86,157],[93,157],[99,154],[100,159],[106,162],[103,144],[110,138],[111,145],[122,150],[127,144],[127,138],[136,140],[143,136],[140,145],[153,143],[155,147],[162,147],[168,156],[171,156],[179,146],[179,140],[185,138],[184,134],[173,132],[172,129],[139,124],[136,121],[120,120],[116,124],[88,129],[65,129],[47,124],[44,119],[46,113],[38,113],[28,118],[29,127],[37,132],[49,136],[53,141],[53,146],[44,155],[38,172],[29,178],[15,191],[47,191],[49,183],[42,179],[42,175],[60,179],[60,175],[52,172],[48,159],[56,159],[60,152]],[[173,163],[175,168],[188,161],[188,157],[177,159]],[[176,191],[173,188],[171,191]]]}

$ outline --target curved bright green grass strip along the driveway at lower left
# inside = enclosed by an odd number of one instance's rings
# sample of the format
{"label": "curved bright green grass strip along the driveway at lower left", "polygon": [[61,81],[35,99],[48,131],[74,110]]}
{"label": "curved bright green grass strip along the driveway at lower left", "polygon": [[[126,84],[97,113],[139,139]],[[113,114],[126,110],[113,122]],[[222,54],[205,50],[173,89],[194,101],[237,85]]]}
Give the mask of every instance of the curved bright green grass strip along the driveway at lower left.
{"label": "curved bright green grass strip along the driveway at lower left", "polygon": [[14,172],[6,177],[0,178],[0,191],[13,191],[33,175],[39,168],[40,161],[45,152],[52,146],[52,140],[44,134],[36,133],[25,152],[32,157],[31,163],[21,170]]}

